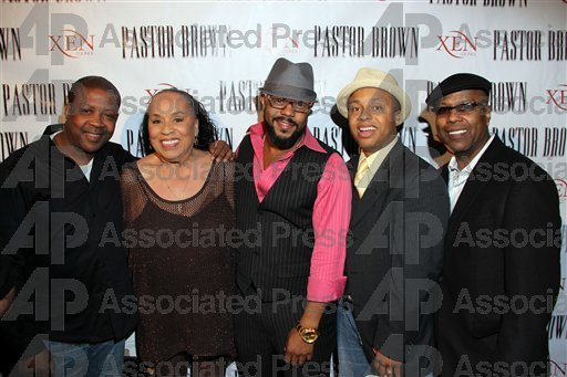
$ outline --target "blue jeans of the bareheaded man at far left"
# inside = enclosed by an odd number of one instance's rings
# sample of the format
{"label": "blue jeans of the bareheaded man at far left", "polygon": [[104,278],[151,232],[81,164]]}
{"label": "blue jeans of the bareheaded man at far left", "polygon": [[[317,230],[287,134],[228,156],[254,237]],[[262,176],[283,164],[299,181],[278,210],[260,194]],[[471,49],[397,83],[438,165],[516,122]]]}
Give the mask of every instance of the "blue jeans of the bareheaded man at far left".
{"label": "blue jeans of the bareheaded man at far left", "polygon": [[125,341],[72,344],[47,341],[56,377],[121,377]]}

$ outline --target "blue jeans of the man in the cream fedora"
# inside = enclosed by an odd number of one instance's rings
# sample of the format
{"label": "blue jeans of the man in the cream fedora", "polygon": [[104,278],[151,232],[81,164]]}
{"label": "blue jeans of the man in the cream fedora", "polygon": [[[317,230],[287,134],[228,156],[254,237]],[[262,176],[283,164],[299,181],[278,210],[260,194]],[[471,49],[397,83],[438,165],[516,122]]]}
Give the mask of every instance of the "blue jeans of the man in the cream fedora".
{"label": "blue jeans of the man in the cream fedora", "polygon": [[339,376],[363,377],[371,374],[371,367],[362,350],[352,305],[342,299],[337,310],[337,347],[339,350]]}

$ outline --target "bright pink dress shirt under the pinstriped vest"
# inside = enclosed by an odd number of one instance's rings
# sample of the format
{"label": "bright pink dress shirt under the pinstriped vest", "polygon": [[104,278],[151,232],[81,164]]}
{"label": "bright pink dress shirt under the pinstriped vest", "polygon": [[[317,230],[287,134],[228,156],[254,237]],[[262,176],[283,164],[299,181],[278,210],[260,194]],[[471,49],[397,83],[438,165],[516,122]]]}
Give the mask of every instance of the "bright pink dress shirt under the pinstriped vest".
{"label": "bright pink dress shirt under the pinstriped vest", "polygon": [[[303,139],[296,148],[265,169],[262,123],[255,124],[248,132],[254,149],[254,184],[260,202],[298,148],[306,146],[315,151],[327,153],[307,128]],[[344,292],[347,276],[343,275],[343,270],[351,213],[351,186],[344,161],[338,154],[332,154],[317,185],[312,214],[316,239],[307,284],[309,301],[330,302],[339,299]]]}

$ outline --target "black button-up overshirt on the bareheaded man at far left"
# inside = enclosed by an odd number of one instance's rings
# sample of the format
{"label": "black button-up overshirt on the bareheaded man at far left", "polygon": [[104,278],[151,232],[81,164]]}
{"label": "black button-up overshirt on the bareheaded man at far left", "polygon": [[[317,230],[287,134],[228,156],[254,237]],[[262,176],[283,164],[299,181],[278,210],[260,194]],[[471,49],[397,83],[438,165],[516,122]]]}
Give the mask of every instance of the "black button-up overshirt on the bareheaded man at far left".
{"label": "black button-up overshirt on the bareheaded man at far left", "polygon": [[42,136],[0,164],[0,294],[11,286],[20,293],[0,322],[2,356],[20,357],[38,334],[99,343],[133,332],[137,315],[120,306],[133,295],[120,243],[120,171],[133,160],[107,143],[87,181]]}

